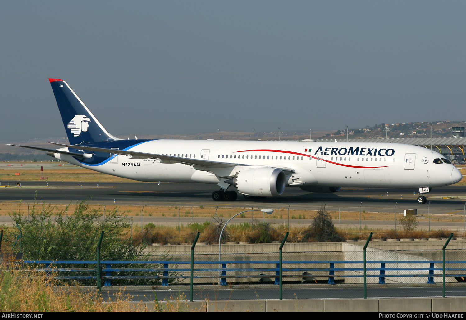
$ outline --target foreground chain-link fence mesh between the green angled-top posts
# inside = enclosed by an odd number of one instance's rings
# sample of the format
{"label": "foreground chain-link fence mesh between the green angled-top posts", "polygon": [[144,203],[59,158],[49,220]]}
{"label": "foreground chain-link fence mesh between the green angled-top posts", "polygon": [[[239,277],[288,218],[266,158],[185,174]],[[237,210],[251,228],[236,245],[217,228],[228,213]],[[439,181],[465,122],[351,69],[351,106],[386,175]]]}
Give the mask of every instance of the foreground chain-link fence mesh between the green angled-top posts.
{"label": "foreground chain-link fence mesh between the green angled-top posts", "polygon": [[[282,254],[280,291],[280,243],[198,243],[194,248],[193,300],[330,299],[442,297],[443,251],[412,250],[413,246],[441,247],[445,240],[409,244],[370,242],[366,249],[364,289],[363,242],[286,243]],[[461,245],[459,245],[461,242]],[[453,247],[463,246],[452,240]],[[384,248],[382,248],[384,247]],[[391,247],[391,250],[387,250]],[[396,248],[395,248],[396,247]],[[411,247],[411,248],[410,248]],[[192,245],[152,245],[134,260],[101,261],[104,295],[125,290],[135,299],[159,300],[184,295],[191,298]],[[303,249],[306,250],[297,250]],[[102,257],[105,257],[102,246]],[[25,256],[27,259],[27,255]],[[96,290],[96,261],[26,260],[50,271],[64,284],[80,284]],[[466,250],[445,250],[445,295],[466,295]]]}

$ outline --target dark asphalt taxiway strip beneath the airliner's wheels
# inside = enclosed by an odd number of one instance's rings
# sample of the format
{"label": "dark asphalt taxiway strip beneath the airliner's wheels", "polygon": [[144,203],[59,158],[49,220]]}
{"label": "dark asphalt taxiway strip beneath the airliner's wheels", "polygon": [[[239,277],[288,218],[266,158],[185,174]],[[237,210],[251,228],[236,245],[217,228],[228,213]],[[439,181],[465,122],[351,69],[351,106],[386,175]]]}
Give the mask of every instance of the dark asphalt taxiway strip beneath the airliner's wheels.
{"label": "dark asphalt taxiway strip beneath the airliner's wheels", "polygon": [[[212,191],[218,189],[212,184],[187,183],[94,183],[94,182],[21,182],[21,188],[5,187],[11,182],[2,181],[0,202],[37,201],[46,203],[69,203],[91,197],[92,203],[133,204],[133,205],[181,205],[249,208],[288,207],[291,209],[317,210],[323,205],[329,211],[397,212],[418,208],[418,213],[450,213],[463,215],[466,204],[466,186],[452,185],[434,189],[426,194],[427,203],[417,204],[414,190],[343,188],[336,193],[310,193],[299,188],[286,188],[279,197],[246,200],[239,195],[236,201],[213,201]],[[36,194],[37,192],[37,194]],[[36,196],[35,196],[36,194]],[[429,206],[430,203],[430,206]]]}

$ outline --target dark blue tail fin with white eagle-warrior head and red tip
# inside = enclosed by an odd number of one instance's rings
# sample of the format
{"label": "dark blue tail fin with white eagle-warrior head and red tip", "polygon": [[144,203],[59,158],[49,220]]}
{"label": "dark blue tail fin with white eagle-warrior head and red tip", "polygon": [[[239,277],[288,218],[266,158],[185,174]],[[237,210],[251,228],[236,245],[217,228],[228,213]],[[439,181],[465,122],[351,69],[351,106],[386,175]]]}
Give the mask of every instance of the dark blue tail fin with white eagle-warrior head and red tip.
{"label": "dark blue tail fin with white eagle-warrior head and red tip", "polygon": [[68,83],[49,78],[70,144],[121,140],[110,133],[79,99]]}

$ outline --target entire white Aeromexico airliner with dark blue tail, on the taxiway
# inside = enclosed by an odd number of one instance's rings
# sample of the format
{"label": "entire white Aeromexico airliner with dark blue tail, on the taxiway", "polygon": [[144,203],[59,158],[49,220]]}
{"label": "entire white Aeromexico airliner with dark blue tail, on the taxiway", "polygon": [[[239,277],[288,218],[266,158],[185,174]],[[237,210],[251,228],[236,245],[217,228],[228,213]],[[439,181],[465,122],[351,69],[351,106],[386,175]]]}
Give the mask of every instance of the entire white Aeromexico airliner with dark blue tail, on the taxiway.
{"label": "entire white Aeromexico airliner with dark blue tail, on the taxiway", "polygon": [[69,85],[49,79],[70,144],[49,156],[138,181],[218,184],[214,200],[280,196],[285,187],[413,188],[418,203],[432,187],[455,184],[458,169],[441,154],[396,143],[225,140],[122,140],[96,119]]}

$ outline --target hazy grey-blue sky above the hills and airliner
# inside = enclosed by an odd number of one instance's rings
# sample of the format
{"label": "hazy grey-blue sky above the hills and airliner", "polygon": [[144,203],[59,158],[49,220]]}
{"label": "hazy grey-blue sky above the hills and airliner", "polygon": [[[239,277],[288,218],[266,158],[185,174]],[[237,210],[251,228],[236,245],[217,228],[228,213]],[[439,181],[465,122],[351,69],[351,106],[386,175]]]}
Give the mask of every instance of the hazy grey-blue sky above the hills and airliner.
{"label": "hazy grey-blue sky above the hills and airliner", "polygon": [[0,140],[466,120],[465,1],[3,1]]}

